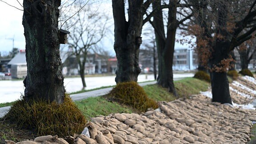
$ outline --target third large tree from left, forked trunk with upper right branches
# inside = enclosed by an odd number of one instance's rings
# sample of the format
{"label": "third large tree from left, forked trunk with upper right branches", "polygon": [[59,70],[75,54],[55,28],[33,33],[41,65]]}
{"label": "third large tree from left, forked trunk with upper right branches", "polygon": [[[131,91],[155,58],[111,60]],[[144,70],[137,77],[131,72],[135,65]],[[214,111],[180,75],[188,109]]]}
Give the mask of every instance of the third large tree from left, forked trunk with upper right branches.
{"label": "third large tree from left, forked trunk with upper right branches", "polygon": [[[184,3],[184,1],[182,0],[169,0],[167,5],[167,32],[165,33],[162,11],[157,11],[153,16],[154,20],[151,22],[152,26],[155,29],[158,53],[157,84],[164,88],[168,88],[169,92],[172,92],[175,96],[177,96],[173,83],[172,72],[176,30],[180,24],[183,24],[184,21],[188,20],[192,16],[192,12],[189,10],[190,5]],[[161,0],[155,0],[152,3],[152,6],[153,9],[159,9],[161,7]],[[186,7],[188,8],[184,9]],[[178,13],[180,13],[180,15],[178,15]]]}

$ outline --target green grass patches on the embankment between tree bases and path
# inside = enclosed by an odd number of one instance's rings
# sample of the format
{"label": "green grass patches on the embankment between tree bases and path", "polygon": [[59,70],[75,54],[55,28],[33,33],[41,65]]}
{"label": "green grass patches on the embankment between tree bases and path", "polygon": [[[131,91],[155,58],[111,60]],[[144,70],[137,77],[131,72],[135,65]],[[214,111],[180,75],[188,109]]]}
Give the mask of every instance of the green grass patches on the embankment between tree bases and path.
{"label": "green grass patches on the embankment between tree bases and path", "polygon": [[[177,93],[180,97],[197,94],[200,91],[206,91],[209,86],[209,83],[195,78],[185,78],[183,80],[177,80],[174,83]],[[143,88],[148,96],[156,101],[172,101],[176,99],[176,97],[170,94],[167,89],[161,88],[156,84],[147,85]],[[78,108],[84,113],[84,116],[88,119],[95,116],[108,115],[110,113],[136,112],[136,110],[130,107],[118,104],[116,102],[108,101],[104,96],[91,97],[85,100],[75,101],[75,103],[77,104]],[[5,107],[9,105],[12,105],[12,103],[0,104],[0,107]]]}

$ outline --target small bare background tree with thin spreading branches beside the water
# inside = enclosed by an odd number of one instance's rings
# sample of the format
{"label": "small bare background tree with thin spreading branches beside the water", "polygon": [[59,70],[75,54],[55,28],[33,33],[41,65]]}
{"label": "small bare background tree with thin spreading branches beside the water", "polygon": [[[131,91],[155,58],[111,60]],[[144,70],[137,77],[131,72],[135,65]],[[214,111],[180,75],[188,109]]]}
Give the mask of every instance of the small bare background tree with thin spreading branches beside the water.
{"label": "small bare background tree with thin spreading branches beside the water", "polygon": [[83,88],[85,88],[84,70],[88,52],[92,52],[106,36],[109,17],[107,13],[99,10],[99,7],[95,7],[96,4],[88,4],[88,6],[79,10],[83,5],[82,0],[76,0],[72,5],[72,10],[78,11],[77,16],[68,20],[64,27],[71,32],[68,45],[69,48],[72,48],[71,55],[76,56],[79,64],[79,74]]}

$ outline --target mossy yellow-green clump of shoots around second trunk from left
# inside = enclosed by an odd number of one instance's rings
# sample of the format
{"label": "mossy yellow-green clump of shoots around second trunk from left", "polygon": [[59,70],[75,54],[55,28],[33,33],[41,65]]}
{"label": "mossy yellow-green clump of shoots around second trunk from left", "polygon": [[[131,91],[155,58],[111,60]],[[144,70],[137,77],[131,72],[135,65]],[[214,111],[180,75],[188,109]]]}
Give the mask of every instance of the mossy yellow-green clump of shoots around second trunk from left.
{"label": "mossy yellow-green clump of shoots around second trunk from left", "polygon": [[107,98],[142,112],[147,111],[148,108],[158,108],[156,101],[148,98],[144,89],[134,81],[117,84],[107,94]]}

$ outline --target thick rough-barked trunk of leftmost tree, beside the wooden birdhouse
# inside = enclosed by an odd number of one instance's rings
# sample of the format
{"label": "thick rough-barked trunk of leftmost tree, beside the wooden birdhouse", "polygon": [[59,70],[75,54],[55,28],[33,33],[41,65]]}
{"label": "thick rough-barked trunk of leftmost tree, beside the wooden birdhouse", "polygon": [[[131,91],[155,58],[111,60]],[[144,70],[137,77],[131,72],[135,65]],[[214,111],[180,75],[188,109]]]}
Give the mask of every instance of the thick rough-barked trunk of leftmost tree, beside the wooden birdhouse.
{"label": "thick rough-barked trunk of leftmost tree, beside the wooden birdhouse", "polygon": [[25,100],[64,101],[58,17],[60,0],[24,0],[27,76]]}

